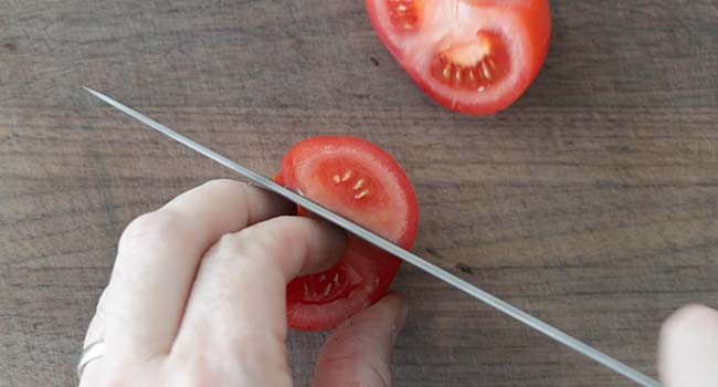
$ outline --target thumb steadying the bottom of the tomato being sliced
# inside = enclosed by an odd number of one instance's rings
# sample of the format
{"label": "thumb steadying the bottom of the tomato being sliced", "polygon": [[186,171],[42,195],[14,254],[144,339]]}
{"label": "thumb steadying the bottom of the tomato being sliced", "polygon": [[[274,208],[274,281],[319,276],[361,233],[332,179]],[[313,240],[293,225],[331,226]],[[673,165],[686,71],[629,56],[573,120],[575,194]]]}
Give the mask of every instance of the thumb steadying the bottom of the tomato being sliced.
{"label": "thumb steadying the bottom of the tomato being sliced", "polygon": [[391,352],[406,318],[406,303],[390,293],[344,322],[321,349],[314,387],[391,386]]}

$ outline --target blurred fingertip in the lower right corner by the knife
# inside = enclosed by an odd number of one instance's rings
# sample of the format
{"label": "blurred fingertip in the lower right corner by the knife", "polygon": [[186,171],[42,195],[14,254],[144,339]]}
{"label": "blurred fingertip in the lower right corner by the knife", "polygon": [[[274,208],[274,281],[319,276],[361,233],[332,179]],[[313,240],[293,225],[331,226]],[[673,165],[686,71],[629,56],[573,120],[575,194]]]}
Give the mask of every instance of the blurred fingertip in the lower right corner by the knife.
{"label": "blurred fingertip in the lower right corner by the knife", "polygon": [[664,324],[658,370],[666,387],[718,386],[718,312],[686,306]]}

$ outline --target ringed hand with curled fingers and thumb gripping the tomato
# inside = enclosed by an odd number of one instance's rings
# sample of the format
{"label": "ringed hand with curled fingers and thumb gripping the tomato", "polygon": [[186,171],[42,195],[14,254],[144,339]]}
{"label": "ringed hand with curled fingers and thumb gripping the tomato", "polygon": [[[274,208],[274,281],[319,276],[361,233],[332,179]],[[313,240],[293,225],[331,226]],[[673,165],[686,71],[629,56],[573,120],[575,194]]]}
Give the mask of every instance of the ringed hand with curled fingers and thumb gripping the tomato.
{"label": "ringed hand with curled fingers and thumb gripping the tomato", "polygon": [[[291,386],[286,284],[329,268],[346,243],[293,212],[264,190],[215,180],[133,221],[85,337],[105,351],[81,386]],[[339,326],[314,386],[391,386],[405,314],[389,294]]]}

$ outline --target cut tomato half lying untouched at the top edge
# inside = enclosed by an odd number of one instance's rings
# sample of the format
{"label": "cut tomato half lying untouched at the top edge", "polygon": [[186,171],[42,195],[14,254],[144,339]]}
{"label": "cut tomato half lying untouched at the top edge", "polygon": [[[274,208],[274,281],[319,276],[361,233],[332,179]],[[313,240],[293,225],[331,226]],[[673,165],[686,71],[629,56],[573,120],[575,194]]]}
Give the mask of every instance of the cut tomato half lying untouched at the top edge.
{"label": "cut tomato half lying untouched at the top edge", "polygon": [[440,104],[492,114],[513,104],[543,65],[548,0],[367,0],[381,41]]}

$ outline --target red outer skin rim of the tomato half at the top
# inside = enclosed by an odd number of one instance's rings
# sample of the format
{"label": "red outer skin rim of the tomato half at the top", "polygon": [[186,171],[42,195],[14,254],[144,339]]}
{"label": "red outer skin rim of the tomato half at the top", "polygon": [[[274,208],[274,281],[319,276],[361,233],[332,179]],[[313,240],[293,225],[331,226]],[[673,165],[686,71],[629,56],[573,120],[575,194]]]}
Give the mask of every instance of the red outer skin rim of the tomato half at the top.
{"label": "red outer skin rim of the tomato half at the top", "polygon": [[[382,19],[386,17],[380,14],[383,10],[380,2],[384,1],[387,0],[366,0],[374,31],[416,85],[439,104],[450,109],[469,115],[488,115],[507,108],[528,90],[546,61],[551,35],[551,11],[548,0],[465,0],[475,7],[506,11],[516,18],[518,21],[515,23],[516,28],[520,29],[516,31],[516,35],[525,36],[522,42],[527,50],[526,56],[529,60],[528,63],[521,64],[520,73],[517,74],[510,88],[486,98],[487,101],[476,102],[453,93],[442,92],[424,69],[418,69],[412,64],[413,59],[406,57],[401,44],[397,42],[397,34],[383,27],[386,21]],[[401,39],[399,38],[399,40]],[[433,49],[426,48],[426,50]]]}

